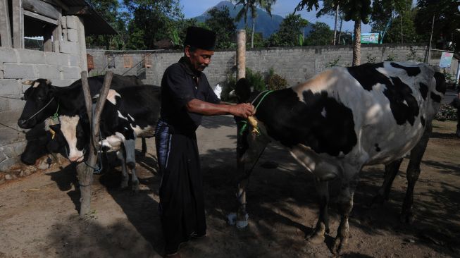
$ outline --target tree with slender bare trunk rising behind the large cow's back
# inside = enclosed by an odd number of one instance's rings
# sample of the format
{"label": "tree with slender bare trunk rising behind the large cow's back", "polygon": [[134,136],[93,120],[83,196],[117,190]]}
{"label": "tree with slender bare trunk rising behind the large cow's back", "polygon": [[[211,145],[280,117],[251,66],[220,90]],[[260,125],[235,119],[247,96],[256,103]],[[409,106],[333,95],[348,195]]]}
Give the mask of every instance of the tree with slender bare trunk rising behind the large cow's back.
{"label": "tree with slender bare trunk rising behind the large cow's back", "polygon": [[[342,6],[344,20],[354,21],[354,42],[353,42],[353,63],[357,66],[361,62],[361,22],[369,23],[371,14],[371,0],[335,0],[335,4]],[[302,0],[297,4],[296,10],[300,11],[306,8],[306,11],[312,11],[319,8],[318,0]]]}

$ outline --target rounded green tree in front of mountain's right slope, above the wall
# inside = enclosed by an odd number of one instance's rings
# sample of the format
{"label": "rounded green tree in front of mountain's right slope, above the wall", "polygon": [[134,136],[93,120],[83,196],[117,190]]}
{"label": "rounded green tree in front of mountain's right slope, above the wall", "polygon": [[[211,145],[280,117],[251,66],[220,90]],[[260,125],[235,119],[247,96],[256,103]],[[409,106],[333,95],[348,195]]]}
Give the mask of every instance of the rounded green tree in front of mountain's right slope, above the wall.
{"label": "rounded green tree in front of mountain's right slope, above the wall", "polygon": [[299,14],[286,16],[280,24],[277,46],[296,46],[299,45],[299,35],[303,36],[303,28],[309,24],[308,20],[303,19]]}

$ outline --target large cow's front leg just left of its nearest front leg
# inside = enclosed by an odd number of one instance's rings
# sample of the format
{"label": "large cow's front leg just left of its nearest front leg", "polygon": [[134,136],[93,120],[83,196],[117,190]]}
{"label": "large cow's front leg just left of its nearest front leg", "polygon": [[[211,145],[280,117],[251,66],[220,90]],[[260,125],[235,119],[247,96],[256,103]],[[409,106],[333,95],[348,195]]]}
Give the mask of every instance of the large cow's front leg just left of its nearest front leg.
{"label": "large cow's front leg just left of its nearest front leg", "polygon": [[316,192],[318,193],[319,218],[316,228],[307,240],[313,244],[324,242],[325,233],[329,233],[329,183],[328,181],[315,180]]}

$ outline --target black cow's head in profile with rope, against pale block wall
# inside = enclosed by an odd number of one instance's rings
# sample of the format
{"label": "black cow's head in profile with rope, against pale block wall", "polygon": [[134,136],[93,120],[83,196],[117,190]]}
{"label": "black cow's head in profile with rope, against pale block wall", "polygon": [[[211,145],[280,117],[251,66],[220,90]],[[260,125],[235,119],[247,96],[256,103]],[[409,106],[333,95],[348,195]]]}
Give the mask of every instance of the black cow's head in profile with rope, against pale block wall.
{"label": "black cow's head in profile with rope, against pale block wall", "polygon": [[32,128],[52,116],[58,102],[54,99],[54,86],[46,79],[27,80],[25,85],[31,85],[24,92],[25,106],[18,119],[20,128]]}

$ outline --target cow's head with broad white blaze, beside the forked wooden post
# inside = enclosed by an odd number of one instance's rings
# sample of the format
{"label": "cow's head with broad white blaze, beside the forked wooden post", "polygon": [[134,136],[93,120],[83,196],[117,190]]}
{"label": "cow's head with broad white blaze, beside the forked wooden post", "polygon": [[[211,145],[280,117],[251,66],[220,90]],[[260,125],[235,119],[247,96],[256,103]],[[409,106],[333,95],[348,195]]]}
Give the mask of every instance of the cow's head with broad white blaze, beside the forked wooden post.
{"label": "cow's head with broad white blaze, beside the forked wooden post", "polygon": [[56,135],[65,139],[66,156],[70,161],[81,162],[85,159],[85,150],[89,142],[89,126],[80,116],[59,116],[60,124],[49,125]]}

